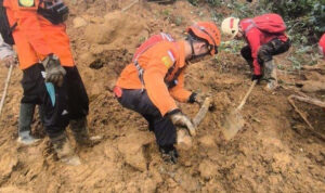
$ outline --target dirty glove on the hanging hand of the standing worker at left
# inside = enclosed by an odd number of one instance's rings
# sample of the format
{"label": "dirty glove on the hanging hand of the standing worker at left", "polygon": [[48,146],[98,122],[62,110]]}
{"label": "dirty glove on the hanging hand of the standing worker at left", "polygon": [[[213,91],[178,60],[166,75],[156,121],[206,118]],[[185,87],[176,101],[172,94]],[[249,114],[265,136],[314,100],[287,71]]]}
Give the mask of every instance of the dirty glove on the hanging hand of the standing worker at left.
{"label": "dirty glove on the hanging hand of the standing worker at left", "polygon": [[66,72],[61,66],[60,59],[54,54],[50,54],[43,60],[42,63],[47,73],[46,81],[50,81],[55,86],[61,87]]}

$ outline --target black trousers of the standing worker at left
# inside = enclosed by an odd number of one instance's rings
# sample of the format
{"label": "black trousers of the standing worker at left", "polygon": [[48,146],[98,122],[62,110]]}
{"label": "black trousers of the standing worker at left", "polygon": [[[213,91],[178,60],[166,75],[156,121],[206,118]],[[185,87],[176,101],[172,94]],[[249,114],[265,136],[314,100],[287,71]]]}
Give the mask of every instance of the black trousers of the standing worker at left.
{"label": "black trousers of the standing worker at left", "polygon": [[64,68],[66,75],[62,87],[54,87],[55,102],[51,100],[49,83],[47,86],[44,82],[42,64],[35,64],[23,70],[22,103],[41,105],[43,124],[50,138],[62,133],[69,119],[82,118],[89,111],[88,95],[77,67]]}

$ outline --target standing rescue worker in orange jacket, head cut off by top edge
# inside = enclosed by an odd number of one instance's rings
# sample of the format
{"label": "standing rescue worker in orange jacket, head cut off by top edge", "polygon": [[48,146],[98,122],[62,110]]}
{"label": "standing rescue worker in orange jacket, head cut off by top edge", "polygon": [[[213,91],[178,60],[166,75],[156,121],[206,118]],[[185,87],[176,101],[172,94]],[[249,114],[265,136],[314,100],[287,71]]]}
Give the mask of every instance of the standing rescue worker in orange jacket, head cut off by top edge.
{"label": "standing rescue worker in orange jacket, head cut off by top edge", "polygon": [[80,164],[67,140],[70,124],[77,144],[89,144],[88,95],[73,59],[61,0],[4,0],[23,70],[22,103],[40,104],[43,125],[58,158]]}

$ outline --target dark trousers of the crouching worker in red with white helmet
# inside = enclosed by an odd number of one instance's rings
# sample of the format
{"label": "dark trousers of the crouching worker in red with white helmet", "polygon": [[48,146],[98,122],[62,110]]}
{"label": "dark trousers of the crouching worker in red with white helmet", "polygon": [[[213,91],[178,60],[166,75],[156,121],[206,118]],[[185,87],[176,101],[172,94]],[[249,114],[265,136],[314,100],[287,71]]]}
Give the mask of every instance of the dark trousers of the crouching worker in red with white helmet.
{"label": "dark trousers of the crouching worker in red with white helmet", "polygon": [[[281,53],[284,53],[289,50],[291,43],[288,39],[287,41],[282,41],[277,38],[269,41],[268,43],[264,43],[260,47],[258,51],[258,62],[260,65],[263,65],[264,62],[271,61],[273,55],[277,55]],[[249,65],[252,67],[252,61],[251,57],[251,49],[249,46],[244,47],[240,50],[242,56],[247,61]]]}

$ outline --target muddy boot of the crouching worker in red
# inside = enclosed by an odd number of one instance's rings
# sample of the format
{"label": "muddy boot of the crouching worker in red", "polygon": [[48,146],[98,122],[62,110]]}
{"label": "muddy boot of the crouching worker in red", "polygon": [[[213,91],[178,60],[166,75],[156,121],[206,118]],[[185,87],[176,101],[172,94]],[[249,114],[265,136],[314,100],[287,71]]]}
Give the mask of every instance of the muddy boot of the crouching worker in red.
{"label": "muddy boot of the crouching worker in red", "polygon": [[264,63],[263,79],[268,81],[265,90],[272,91],[277,88],[276,66],[274,65],[273,60]]}

